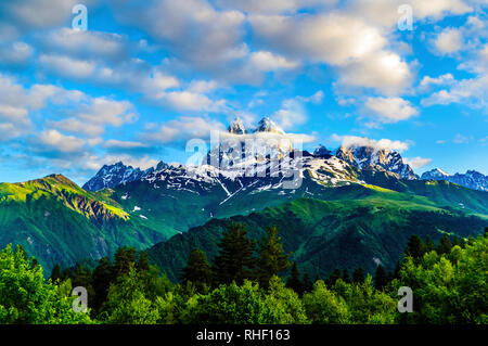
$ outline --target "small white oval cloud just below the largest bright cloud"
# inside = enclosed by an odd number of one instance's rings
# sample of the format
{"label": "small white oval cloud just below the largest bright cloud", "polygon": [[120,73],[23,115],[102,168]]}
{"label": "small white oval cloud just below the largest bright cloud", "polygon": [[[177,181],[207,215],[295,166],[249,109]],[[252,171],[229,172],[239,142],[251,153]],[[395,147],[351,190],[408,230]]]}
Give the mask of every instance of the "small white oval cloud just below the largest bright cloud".
{"label": "small white oval cloud just below the largest bright cloud", "polygon": [[409,101],[401,98],[368,98],[364,107],[382,123],[397,123],[419,114]]}

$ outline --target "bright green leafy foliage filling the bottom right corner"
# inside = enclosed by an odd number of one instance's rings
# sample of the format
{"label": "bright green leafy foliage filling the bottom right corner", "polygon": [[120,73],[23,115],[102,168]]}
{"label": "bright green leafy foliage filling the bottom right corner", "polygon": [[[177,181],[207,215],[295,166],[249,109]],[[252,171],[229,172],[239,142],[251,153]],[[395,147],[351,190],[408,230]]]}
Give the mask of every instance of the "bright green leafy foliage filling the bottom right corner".
{"label": "bright green leafy foliage filling the bottom right corner", "polygon": [[431,252],[416,264],[408,257],[396,287],[413,290],[413,312],[398,317],[408,323],[488,322],[488,239],[478,236],[449,254]]}

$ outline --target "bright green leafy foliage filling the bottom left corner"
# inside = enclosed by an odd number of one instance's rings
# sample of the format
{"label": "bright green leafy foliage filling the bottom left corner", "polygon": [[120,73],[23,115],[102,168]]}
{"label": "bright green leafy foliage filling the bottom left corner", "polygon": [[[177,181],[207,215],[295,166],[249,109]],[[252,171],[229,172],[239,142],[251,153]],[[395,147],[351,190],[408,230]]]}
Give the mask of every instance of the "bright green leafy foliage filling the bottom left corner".
{"label": "bright green leafy foliage filling the bottom left corner", "polygon": [[[69,290],[70,291],[70,290]],[[0,252],[0,323],[90,323],[88,313],[75,312],[74,297],[62,286],[46,283],[40,265],[8,245]]]}

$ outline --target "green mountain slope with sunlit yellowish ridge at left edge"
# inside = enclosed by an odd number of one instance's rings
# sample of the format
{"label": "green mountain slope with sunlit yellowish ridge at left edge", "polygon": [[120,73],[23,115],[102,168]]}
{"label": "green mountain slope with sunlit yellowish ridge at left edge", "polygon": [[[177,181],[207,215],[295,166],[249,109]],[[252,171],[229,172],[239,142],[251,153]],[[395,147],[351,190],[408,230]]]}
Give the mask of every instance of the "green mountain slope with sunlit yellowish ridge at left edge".
{"label": "green mountain slope with sunlit yellowish ridge at left edge", "polygon": [[165,234],[131,217],[116,202],[59,175],[0,184],[0,244],[21,244],[49,272],[99,259],[123,245],[144,248]]}

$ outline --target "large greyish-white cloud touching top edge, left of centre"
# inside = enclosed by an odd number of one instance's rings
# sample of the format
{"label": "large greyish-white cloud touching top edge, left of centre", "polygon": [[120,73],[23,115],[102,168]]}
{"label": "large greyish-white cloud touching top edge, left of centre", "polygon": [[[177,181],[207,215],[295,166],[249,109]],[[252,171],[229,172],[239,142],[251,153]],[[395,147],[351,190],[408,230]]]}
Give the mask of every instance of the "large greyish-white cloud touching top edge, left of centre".
{"label": "large greyish-white cloud touching top edge, left of centre", "polygon": [[139,8],[134,1],[131,4],[115,9],[119,20],[142,27],[192,65],[213,68],[247,52],[242,44],[242,12],[217,11],[206,0],[152,0]]}

